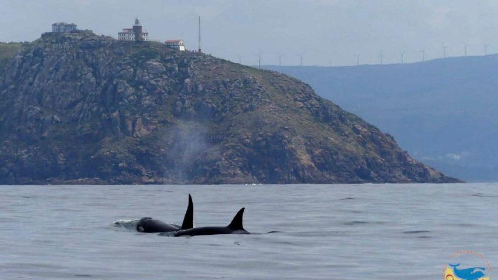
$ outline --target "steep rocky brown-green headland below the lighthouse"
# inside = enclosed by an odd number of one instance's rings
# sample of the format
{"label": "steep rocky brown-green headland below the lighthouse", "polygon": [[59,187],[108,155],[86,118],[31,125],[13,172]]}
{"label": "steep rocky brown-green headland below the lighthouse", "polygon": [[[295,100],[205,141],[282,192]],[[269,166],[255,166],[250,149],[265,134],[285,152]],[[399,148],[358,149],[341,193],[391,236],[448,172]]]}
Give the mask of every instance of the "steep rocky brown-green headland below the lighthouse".
{"label": "steep rocky brown-green headland below the lighthouse", "polygon": [[45,34],[0,72],[0,184],[456,182],[288,76]]}

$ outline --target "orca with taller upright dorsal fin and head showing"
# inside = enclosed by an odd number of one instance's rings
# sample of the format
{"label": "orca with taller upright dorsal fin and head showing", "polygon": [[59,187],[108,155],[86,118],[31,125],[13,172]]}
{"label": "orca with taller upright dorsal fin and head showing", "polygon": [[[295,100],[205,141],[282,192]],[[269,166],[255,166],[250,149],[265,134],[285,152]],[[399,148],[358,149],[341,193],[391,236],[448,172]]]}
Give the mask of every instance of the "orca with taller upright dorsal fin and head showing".
{"label": "orca with taller upright dorsal fin and head showing", "polygon": [[194,227],[194,205],[192,203],[192,196],[188,195],[188,206],[183,217],[182,226],[179,227],[174,224],[165,223],[160,220],[145,217],[141,218],[136,224],[136,231],[144,233],[156,232],[172,232],[178,230],[187,230]]}

